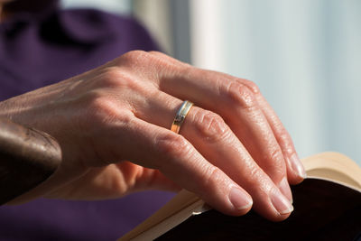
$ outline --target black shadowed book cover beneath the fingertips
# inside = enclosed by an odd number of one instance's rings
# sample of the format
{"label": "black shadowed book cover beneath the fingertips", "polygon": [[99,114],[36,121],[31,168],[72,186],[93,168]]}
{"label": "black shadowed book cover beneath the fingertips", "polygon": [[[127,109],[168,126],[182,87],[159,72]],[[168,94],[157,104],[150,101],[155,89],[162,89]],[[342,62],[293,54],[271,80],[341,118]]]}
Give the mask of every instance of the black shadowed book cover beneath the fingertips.
{"label": "black shadowed book cover beneath the fingertips", "polygon": [[216,210],[193,216],[156,240],[361,240],[361,193],[330,181],[307,179],[292,187],[294,211],[282,222],[249,212]]}

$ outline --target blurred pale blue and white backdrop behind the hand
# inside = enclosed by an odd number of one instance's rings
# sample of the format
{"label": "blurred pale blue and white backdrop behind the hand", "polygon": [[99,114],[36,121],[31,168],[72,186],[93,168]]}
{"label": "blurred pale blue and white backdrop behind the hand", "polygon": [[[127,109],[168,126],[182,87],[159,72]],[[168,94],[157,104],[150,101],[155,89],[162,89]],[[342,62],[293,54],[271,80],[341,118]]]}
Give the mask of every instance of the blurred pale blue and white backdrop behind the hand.
{"label": "blurred pale blue and white backdrop behind the hand", "polygon": [[361,1],[63,0],[134,15],[171,56],[250,79],[301,157],[361,165]]}

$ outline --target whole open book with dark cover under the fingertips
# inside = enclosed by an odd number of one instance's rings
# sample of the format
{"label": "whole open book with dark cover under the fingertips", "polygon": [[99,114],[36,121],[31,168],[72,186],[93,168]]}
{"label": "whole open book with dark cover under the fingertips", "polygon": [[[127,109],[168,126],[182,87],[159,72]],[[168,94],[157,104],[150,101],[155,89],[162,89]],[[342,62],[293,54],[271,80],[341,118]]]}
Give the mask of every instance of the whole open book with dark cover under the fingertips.
{"label": "whole open book with dark cover under the fingertips", "polygon": [[308,178],[292,186],[292,215],[272,222],[251,210],[231,217],[181,190],[125,240],[360,240],[361,168],[341,153],[302,160]]}

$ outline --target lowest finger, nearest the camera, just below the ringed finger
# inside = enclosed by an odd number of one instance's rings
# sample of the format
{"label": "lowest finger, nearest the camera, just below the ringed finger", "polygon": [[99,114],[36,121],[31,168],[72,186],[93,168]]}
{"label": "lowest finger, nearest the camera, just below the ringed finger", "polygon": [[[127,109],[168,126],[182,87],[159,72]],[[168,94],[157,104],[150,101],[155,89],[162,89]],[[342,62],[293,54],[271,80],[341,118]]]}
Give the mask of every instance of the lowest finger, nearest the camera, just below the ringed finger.
{"label": "lowest finger, nearest the camera, just below the ringed finger", "polygon": [[238,216],[252,208],[250,195],[180,134],[134,116],[126,127],[122,121],[113,123],[106,133],[94,138],[100,156],[158,169],[223,213]]}

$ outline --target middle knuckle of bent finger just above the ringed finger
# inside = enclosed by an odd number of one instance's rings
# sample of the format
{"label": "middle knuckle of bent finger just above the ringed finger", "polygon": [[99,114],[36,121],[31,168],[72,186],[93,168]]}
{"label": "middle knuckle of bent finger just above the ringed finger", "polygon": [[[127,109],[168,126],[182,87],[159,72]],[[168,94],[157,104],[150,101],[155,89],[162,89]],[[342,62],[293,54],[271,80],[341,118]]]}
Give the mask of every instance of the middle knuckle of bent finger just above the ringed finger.
{"label": "middle knuckle of bent finger just above the ringed finger", "polygon": [[236,107],[249,109],[257,105],[255,93],[239,82],[232,81],[226,88],[226,95]]}

